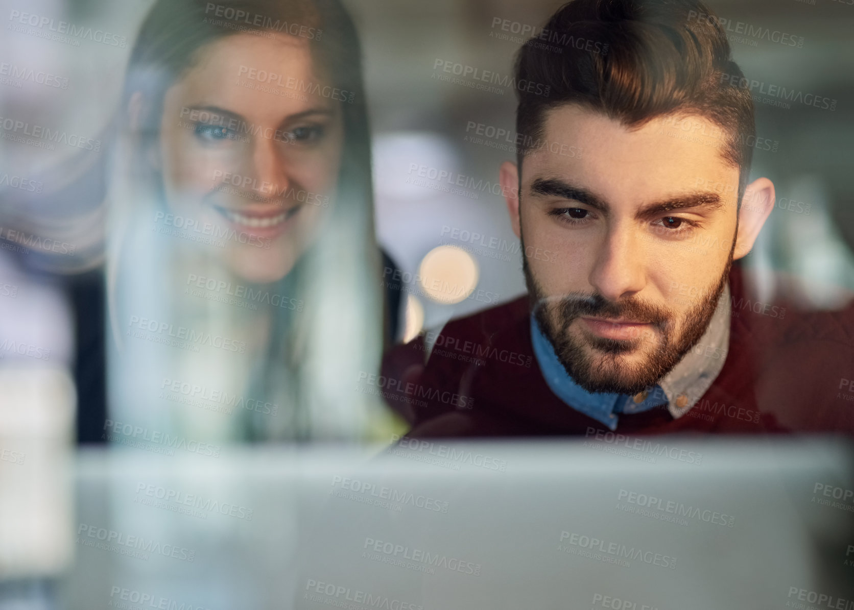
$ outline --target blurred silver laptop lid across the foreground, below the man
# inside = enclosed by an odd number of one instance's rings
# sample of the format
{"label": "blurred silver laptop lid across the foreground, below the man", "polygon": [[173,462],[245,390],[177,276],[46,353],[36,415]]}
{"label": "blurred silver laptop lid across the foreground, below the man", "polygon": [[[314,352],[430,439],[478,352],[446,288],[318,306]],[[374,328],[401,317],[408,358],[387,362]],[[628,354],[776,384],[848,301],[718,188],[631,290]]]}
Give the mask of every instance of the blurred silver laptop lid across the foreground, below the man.
{"label": "blurred silver laptop lid across the foreground, below the man", "polygon": [[[828,439],[79,455],[60,608],[851,608]],[[68,531],[70,529],[70,532]]]}

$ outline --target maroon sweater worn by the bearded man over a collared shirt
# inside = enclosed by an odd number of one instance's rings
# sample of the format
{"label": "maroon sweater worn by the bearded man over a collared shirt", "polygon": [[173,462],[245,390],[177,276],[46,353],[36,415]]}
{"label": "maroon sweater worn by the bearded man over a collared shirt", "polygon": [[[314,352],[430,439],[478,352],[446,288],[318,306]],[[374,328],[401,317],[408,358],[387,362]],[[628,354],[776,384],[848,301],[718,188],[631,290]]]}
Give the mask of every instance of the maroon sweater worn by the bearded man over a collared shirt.
{"label": "maroon sweater worn by the bearded man over a collared shirt", "polygon": [[[740,266],[720,375],[679,419],[665,408],[620,415],[617,433],[854,433],[854,304],[795,311],[757,304]],[[425,364],[424,335],[383,358],[387,402],[409,437],[585,435],[607,428],[571,409],[543,379],[527,297],[448,322]],[[707,352],[707,357],[722,357]],[[851,381],[849,381],[851,380]]]}

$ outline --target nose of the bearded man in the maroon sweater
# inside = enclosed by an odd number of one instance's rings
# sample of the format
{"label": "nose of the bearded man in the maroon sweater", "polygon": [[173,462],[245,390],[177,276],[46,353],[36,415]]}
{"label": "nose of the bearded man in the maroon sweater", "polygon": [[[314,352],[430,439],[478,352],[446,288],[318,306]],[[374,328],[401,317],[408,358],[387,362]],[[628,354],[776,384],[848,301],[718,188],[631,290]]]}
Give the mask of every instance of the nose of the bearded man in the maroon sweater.
{"label": "nose of the bearded man in the maroon sweater", "polygon": [[629,223],[611,226],[596,253],[588,282],[605,299],[627,299],[646,284],[645,254],[640,236]]}

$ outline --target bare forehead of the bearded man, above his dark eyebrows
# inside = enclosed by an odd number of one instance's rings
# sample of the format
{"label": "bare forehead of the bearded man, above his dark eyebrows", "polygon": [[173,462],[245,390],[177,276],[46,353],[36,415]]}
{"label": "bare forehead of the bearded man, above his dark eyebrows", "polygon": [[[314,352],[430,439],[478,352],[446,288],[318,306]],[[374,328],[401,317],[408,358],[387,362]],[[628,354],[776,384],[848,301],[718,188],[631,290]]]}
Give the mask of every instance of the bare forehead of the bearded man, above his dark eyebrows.
{"label": "bare forehead of the bearded man, above his dark eyebrows", "polygon": [[[535,179],[564,178],[614,200],[657,200],[688,190],[734,198],[739,169],[722,156],[723,136],[696,115],[658,117],[629,128],[566,104],[547,111],[541,146],[525,156],[523,183],[529,188]],[[568,149],[578,152],[555,152]]]}

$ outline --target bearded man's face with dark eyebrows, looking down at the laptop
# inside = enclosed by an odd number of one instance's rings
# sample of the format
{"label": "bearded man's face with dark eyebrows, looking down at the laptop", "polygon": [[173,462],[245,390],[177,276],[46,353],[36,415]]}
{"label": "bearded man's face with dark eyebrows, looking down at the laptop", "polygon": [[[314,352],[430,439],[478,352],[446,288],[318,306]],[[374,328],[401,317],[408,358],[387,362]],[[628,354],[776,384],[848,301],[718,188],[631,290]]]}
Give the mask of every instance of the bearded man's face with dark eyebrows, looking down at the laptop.
{"label": "bearded man's face with dark eyebrows, looking down at the laptop", "polygon": [[518,205],[535,317],[586,390],[640,392],[680,361],[717,307],[737,189],[708,185],[737,185],[739,169],[722,158],[722,140],[675,137],[666,119],[630,131],[567,105],[544,125],[544,139],[565,146],[525,157]]}

